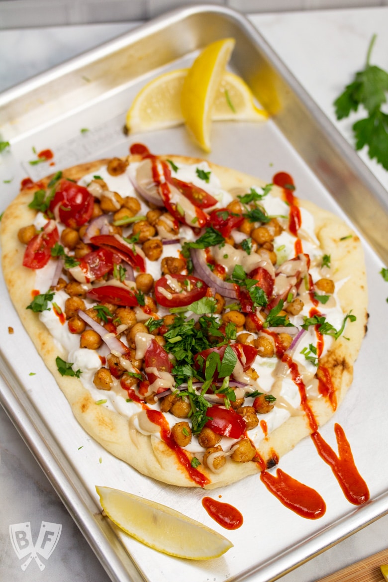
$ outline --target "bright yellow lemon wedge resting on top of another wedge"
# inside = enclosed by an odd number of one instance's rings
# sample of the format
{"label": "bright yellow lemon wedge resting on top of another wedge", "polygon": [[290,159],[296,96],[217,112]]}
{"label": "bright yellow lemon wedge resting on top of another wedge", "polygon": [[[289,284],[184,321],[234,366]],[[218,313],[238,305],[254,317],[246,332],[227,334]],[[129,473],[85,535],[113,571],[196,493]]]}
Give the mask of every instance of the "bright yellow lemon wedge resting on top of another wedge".
{"label": "bright yellow lemon wedge resting on top of another wedge", "polygon": [[202,150],[210,151],[212,107],[234,38],[212,42],[197,56],[188,70],[181,93],[181,109],[188,132]]}

